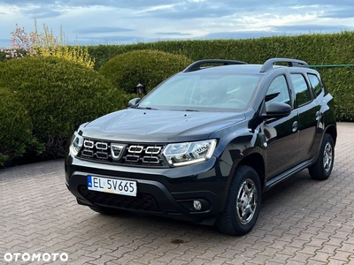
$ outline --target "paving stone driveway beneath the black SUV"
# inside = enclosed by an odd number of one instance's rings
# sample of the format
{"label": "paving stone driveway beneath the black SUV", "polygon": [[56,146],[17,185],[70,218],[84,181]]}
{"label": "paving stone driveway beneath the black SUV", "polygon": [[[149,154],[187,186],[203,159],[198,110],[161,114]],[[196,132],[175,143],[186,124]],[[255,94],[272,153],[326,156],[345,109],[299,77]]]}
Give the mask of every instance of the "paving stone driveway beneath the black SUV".
{"label": "paving stone driveway beneath the black SUV", "polygon": [[331,177],[313,181],[304,170],[266,193],[243,237],[96,214],[66,190],[62,159],[0,170],[0,264],[28,264],[33,254],[42,255],[33,264],[49,255],[56,264],[354,264],[354,124],[338,124],[338,134]]}

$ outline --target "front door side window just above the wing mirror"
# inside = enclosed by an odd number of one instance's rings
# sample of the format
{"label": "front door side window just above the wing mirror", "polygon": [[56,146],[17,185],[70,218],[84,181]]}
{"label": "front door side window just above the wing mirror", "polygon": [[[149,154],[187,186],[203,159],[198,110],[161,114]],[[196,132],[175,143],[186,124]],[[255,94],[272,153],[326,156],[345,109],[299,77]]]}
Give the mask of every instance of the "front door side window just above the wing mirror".
{"label": "front door side window just above the wing mirror", "polygon": [[290,105],[288,83],[283,75],[273,79],[266,92],[266,108],[271,102],[282,102]]}

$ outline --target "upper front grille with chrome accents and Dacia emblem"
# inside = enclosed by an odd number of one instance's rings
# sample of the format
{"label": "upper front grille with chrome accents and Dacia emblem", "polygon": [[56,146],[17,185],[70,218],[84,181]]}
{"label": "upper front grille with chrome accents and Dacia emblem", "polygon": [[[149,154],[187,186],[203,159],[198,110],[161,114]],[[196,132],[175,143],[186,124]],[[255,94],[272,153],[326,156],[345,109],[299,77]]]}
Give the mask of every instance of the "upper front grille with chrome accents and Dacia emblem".
{"label": "upper front grille with chrome accents and Dacia emblem", "polygon": [[167,166],[162,158],[165,145],[119,143],[85,138],[80,157],[106,163]]}

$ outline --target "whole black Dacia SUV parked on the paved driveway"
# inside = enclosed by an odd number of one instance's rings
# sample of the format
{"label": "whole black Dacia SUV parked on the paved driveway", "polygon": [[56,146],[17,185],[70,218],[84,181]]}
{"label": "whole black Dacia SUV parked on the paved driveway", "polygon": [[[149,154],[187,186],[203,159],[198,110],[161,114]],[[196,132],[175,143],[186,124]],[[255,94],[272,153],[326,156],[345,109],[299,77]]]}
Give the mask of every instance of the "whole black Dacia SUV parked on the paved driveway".
{"label": "whole black Dacia SUV parked on the paved driveway", "polygon": [[304,61],[197,61],[128,106],[81,125],[65,158],[66,186],[99,213],[243,235],[263,192],[305,168],[319,180],[333,168],[333,97]]}

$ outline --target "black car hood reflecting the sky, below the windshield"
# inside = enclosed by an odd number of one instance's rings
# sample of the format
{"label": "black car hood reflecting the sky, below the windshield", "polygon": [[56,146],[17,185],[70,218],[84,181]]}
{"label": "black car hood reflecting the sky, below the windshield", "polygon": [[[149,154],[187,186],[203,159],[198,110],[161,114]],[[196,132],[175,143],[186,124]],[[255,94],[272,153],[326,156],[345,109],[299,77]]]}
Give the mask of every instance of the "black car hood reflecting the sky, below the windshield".
{"label": "black car hood reflecting the sky, below the windshield", "polygon": [[84,137],[141,142],[204,140],[245,118],[243,113],[127,109],[85,125]]}

